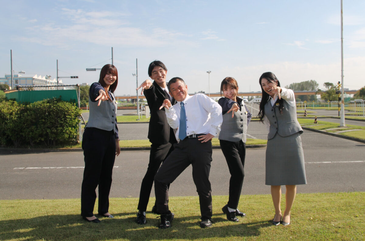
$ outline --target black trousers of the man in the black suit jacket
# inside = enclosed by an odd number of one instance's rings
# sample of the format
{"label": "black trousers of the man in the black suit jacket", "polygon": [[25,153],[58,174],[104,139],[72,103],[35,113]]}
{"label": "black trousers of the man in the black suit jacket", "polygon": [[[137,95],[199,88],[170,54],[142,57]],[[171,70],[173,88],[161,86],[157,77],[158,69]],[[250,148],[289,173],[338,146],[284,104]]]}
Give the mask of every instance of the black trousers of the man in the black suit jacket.
{"label": "black trousers of the man in the black suit jacket", "polygon": [[[175,137],[174,137],[175,138]],[[162,162],[174,149],[169,142],[167,144],[151,144],[150,161],[148,163],[145,177],[143,177],[141,184],[141,191],[139,192],[139,201],[137,209],[141,212],[146,212],[148,201],[150,199],[153,179],[160,168]]]}

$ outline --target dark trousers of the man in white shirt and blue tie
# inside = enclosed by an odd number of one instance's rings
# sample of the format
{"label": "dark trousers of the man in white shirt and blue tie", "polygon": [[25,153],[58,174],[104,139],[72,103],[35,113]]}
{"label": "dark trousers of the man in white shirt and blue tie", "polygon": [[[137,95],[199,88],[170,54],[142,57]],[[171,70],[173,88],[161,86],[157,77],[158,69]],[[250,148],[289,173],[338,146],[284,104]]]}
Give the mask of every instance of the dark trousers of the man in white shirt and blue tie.
{"label": "dark trousers of the man in white shirt and blue tie", "polygon": [[198,138],[185,138],[174,145],[174,150],[162,163],[155,175],[156,208],[160,213],[169,211],[168,185],[190,164],[193,167],[193,181],[199,195],[201,218],[212,217],[212,195],[209,181],[212,161],[212,142]]}

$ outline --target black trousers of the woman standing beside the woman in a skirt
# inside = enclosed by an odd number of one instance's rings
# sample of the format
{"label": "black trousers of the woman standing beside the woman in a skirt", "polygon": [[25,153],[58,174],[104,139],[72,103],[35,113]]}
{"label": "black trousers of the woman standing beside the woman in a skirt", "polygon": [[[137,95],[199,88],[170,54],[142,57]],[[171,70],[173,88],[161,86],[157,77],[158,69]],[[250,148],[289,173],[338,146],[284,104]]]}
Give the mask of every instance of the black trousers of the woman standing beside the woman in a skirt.
{"label": "black trousers of the woman standing beside the woman in a skirt", "polygon": [[226,158],[231,178],[229,180],[228,207],[237,209],[245,172],[246,143],[219,140],[220,149]]}

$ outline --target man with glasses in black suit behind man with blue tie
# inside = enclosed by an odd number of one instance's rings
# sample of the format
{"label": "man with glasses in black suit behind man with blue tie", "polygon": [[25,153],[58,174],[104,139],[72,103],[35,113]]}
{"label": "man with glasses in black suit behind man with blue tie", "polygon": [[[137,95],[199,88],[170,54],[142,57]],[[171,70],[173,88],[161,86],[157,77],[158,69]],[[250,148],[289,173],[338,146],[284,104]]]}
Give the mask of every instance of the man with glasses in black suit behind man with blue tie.
{"label": "man with glasses in black suit behind man with blue tie", "polygon": [[[173,150],[173,144],[177,142],[174,130],[167,122],[165,109],[159,109],[165,99],[171,100],[172,104],[176,103],[176,100],[169,95],[166,86],[166,74],[167,68],[165,64],[155,60],[148,67],[148,75],[154,82],[152,83],[151,80],[147,79],[137,88],[137,90],[142,88],[141,94],[144,92],[151,112],[148,129],[148,138],[151,142],[150,160],[139,193],[136,218],[138,224],[146,224],[146,209],[154,176],[160,168],[161,163]],[[152,212],[156,213],[155,206],[153,206]]]}

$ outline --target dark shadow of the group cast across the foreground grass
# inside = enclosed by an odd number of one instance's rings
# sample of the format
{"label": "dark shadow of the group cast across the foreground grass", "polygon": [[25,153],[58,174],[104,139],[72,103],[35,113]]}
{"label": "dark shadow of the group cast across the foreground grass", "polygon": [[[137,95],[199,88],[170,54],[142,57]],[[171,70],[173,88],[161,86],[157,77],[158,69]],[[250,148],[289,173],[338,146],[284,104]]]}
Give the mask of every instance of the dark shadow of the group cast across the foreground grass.
{"label": "dark shadow of the group cast across the foreground grass", "polygon": [[[260,229],[272,226],[269,221],[240,218],[230,222],[213,215],[211,228],[199,227],[200,216],[175,216],[172,227],[157,228],[158,218],[147,217],[146,225],[135,223],[135,213],[116,213],[115,218],[101,218],[101,223],[87,222],[80,215],[48,215],[29,219],[0,221],[0,240],[159,240],[159,239],[203,239],[233,236],[260,236]],[[150,215],[149,215],[150,216]],[[215,217],[216,216],[216,217]],[[156,215],[157,217],[157,215]]]}

